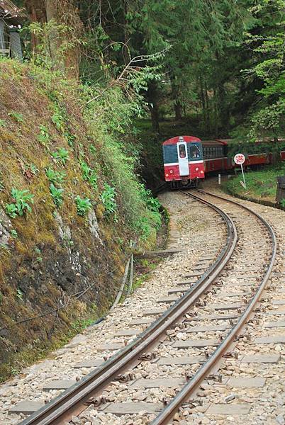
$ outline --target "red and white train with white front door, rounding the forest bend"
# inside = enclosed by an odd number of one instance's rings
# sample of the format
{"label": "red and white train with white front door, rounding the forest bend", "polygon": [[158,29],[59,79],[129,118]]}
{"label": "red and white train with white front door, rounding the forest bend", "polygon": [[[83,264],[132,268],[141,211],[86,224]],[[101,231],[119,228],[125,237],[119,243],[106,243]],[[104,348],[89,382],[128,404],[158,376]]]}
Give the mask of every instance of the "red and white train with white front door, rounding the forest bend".
{"label": "red and white train with white front door, rounding the forest bend", "polygon": [[[211,171],[227,171],[237,166],[228,155],[229,140],[206,140],[198,137],[177,136],[163,145],[164,178],[172,188],[195,187],[205,174]],[[281,141],[283,142],[283,141]],[[253,150],[260,142],[252,144]],[[259,149],[256,149],[259,150]],[[280,145],[279,154],[285,161],[285,148]],[[272,164],[272,153],[247,154],[245,168]]]}

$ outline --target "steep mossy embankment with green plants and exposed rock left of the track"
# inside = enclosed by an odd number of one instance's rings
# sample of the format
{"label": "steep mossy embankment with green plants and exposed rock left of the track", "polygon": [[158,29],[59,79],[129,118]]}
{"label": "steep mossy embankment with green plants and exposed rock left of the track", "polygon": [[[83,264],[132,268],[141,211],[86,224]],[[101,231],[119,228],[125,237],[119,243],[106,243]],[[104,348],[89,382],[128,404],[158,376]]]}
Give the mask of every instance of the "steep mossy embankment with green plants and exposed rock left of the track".
{"label": "steep mossy embankment with green plants and exposed rock left of the track", "polygon": [[123,94],[92,97],[0,60],[0,380],[108,309],[130,239],[155,244],[160,215],[138,181],[135,140],[117,130]]}

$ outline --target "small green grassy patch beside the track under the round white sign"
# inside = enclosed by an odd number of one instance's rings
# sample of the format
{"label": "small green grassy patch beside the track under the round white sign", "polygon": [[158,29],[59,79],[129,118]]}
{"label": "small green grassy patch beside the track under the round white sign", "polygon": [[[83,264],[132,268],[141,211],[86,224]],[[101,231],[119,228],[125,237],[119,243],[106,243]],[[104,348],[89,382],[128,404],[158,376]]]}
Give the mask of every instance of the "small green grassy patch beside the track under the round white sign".
{"label": "small green grassy patch beside the track under the round white sign", "polygon": [[285,175],[285,164],[268,166],[260,171],[249,171],[245,173],[246,188],[240,181],[241,174],[233,176],[223,183],[223,189],[233,196],[254,200],[257,203],[274,205],[276,203],[277,176]]}

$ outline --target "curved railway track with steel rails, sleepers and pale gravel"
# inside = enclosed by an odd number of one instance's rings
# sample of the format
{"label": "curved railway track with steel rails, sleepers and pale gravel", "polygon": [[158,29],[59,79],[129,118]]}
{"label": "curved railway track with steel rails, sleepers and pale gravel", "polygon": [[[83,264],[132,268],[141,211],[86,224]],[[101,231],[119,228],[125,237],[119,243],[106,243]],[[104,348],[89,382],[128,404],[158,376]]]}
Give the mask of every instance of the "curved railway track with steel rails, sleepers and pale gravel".
{"label": "curved railway track with steel rails, sleepers and pale gravel", "polygon": [[[220,215],[227,233],[223,249],[217,254],[213,240],[213,251],[201,259],[201,271],[185,276],[186,281],[169,291],[170,297],[165,303],[172,302],[172,305],[166,312],[138,338],[29,416],[21,422],[22,425],[64,424],[85,409],[95,409],[103,414],[131,415],[135,412],[135,404],[137,411],[145,407],[147,421],[144,423],[168,424],[181,405],[196,397],[201,382],[219,379],[217,370],[220,361],[223,356],[234,354],[235,340],[244,332],[270,276],[276,256],[276,237],[262,217],[239,203],[216,196],[214,205],[208,200],[213,195],[203,191],[185,193],[185,196],[191,197],[193,202],[207,205]],[[230,212],[225,212],[230,202]],[[262,242],[261,235],[264,238]],[[250,251],[252,242],[256,244],[255,251]],[[212,261],[211,266],[205,269],[209,261]],[[246,272],[241,273],[243,277],[240,282],[233,285],[228,274],[229,271],[238,273],[238,270]],[[252,273],[253,278],[250,277]],[[234,303],[231,302],[233,298]],[[223,324],[220,325],[220,322]],[[198,339],[187,338],[192,334]],[[205,335],[211,336],[211,339],[205,339]],[[157,353],[156,357],[154,352]],[[173,366],[174,371],[171,371]],[[151,367],[160,371],[157,382],[147,382],[150,380],[144,378],[138,380],[140,382],[133,382],[130,370],[138,370],[141,376],[147,376],[147,370]],[[169,381],[176,382],[172,391],[175,397],[172,399],[162,397],[164,391],[160,390],[158,398],[162,404],[141,403],[138,399],[132,403],[129,402],[132,396],[125,397],[125,393],[108,402],[108,387],[113,382],[124,382],[127,393],[134,395],[134,392],[143,389],[147,395],[149,388],[157,385],[159,388],[165,387],[165,379],[163,382],[160,376],[164,377],[166,373],[169,373]],[[160,379],[162,385],[159,385]],[[167,387],[172,387],[172,383],[168,382]]]}

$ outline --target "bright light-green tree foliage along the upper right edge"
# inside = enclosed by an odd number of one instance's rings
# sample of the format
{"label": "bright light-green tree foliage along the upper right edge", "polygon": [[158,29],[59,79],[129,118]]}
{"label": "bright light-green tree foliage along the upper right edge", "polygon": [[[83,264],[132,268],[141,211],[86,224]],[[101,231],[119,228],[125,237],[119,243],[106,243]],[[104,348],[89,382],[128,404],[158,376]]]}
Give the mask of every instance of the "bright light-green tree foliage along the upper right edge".
{"label": "bright light-green tree foliage along the upper right edge", "polygon": [[284,1],[262,0],[252,8],[257,18],[254,33],[247,34],[247,46],[254,54],[252,67],[245,69],[247,78],[254,75],[262,82],[257,89],[259,103],[252,113],[249,136],[278,137],[285,131],[284,70]]}

